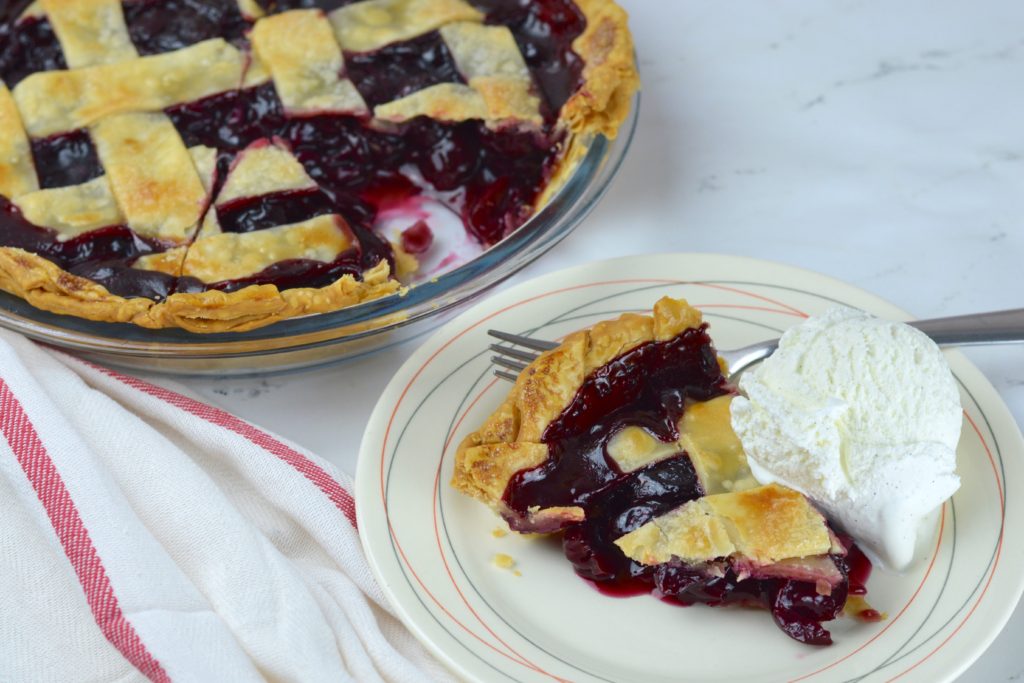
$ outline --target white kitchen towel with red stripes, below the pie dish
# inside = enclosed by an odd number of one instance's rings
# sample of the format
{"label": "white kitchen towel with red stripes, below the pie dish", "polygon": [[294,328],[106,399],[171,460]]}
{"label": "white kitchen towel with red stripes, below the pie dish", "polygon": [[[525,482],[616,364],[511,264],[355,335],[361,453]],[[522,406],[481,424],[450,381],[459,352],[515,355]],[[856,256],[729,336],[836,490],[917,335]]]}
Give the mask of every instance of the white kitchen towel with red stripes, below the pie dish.
{"label": "white kitchen towel with red stripes, below the pie dish", "polygon": [[375,584],[350,488],[224,411],[0,332],[0,681],[447,679]]}

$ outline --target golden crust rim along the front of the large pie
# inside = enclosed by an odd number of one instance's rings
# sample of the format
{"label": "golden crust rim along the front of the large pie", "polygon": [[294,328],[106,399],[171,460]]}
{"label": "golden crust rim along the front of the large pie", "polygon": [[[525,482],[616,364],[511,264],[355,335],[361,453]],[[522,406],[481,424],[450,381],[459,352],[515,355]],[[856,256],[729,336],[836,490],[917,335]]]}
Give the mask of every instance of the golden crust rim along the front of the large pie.
{"label": "golden crust rim along the front of the large pie", "polygon": [[125,299],[79,278],[36,254],[0,247],[0,290],[33,306],[103,323],[132,323],[143,328],[182,328],[188,332],[246,332],[279,321],[326,313],[398,293],[387,261],[362,273],[345,275],[328,287],[281,291],[254,285],[237,292],[210,290],[172,294],[165,301]]}

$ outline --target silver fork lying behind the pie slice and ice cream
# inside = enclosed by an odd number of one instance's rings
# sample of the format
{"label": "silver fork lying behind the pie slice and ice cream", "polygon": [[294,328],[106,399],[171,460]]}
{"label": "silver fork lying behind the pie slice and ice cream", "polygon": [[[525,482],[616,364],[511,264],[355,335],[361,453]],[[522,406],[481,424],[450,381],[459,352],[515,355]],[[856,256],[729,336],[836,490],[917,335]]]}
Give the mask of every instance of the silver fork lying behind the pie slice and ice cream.
{"label": "silver fork lying behind the pie slice and ice cream", "polygon": [[[987,313],[972,313],[953,317],[938,317],[930,321],[909,321],[907,325],[918,328],[940,346],[971,346],[979,344],[1010,344],[1024,342],[1024,308],[995,310]],[[492,344],[490,350],[498,353],[490,361],[504,370],[495,370],[495,375],[503,380],[515,382],[519,373],[543,351],[548,351],[558,342],[513,335],[499,330],[488,330],[487,334],[513,346]],[[522,350],[515,348],[522,346]],[[756,362],[764,360],[778,348],[777,339],[743,346],[731,350],[718,350],[718,354],[729,369],[729,378],[737,376]],[[507,372],[509,370],[515,373]]]}

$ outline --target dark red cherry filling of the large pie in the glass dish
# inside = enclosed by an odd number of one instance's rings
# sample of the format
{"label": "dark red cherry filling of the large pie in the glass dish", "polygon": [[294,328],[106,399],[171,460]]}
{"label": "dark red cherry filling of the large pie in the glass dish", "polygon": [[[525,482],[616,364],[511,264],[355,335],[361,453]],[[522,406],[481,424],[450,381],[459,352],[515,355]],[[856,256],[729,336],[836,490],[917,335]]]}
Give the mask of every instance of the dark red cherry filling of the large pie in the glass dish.
{"label": "dark red cherry filling of the large pie in the glass dish", "polygon": [[[346,1],[266,0],[268,13],[316,7],[327,11]],[[126,225],[109,225],[71,239],[32,224],[18,207],[0,197],[0,246],[34,252],[72,273],[123,297],[157,301],[176,292],[234,291],[255,284],[279,289],[324,287],[387,260],[394,272],[391,243],[375,231],[380,212],[429,193],[457,213],[481,246],[496,244],[529,217],[561,154],[557,113],[580,87],[582,62],[572,41],[585,23],[570,0],[476,0],[485,23],[508,27],[529,68],[541,99],[543,125],[489,128],[482,121],[440,122],[418,117],[381,125],[351,115],[287,116],[267,83],[168,108],[165,114],[185,146],[217,150],[216,183],[222,184],[238,155],[258,140],[280,140],[317,187],[242,198],[216,211],[225,232],[248,232],[338,214],[354,238],[333,262],[292,259],[238,280],[204,283],[194,278],[134,268],[136,259],[176,245],[143,238]],[[39,71],[67,65],[45,16],[17,17],[27,2],[8,7],[0,40],[0,77],[13,88]],[[125,23],[140,55],[177,50],[222,37],[246,48],[252,22],[234,0],[128,0]],[[344,53],[347,77],[374,104],[437,83],[464,83],[436,31],[364,53]],[[32,140],[41,188],[81,184],[103,174],[86,130]],[[216,196],[216,189],[213,193]],[[425,223],[410,221],[400,244],[410,253],[430,248]]]}

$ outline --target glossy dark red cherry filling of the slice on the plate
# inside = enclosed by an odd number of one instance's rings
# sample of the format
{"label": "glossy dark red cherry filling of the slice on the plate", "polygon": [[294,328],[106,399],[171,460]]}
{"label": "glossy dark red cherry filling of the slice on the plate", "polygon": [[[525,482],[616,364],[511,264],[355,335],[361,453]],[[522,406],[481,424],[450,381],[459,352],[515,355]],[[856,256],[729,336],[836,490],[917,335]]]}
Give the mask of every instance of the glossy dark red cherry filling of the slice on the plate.
{"label": "glossy dark red cherry filling of the slice on the plate", "polygon": [[[669,341],[647,342],[586,378],[571,402],[545,430],[550,458],[517,473],[503,502],[512,528],[562,530],[562,549],[577,573],[603,593],[652,593],[677,604],[741,604],[770,610],[792,638],[824,645],[822,622],[843,611],[848,595],[863,595],[870,563],[849,538],[846,554],[829,559],[842,574],[827,595],[813,580],[749,575],[725,561],[718,571],[681,561],[641,564],[614,544],[648,521],[706,495],[685,452],[623,472],[609,456],[612,436],[642,427],[664,442],[676,441],[686,407],[733,392],[718,365],[707,325]],[[579,506],[585,520],[531,525],[530,509]],[[724,570],[722,570],[724,569]],[[861,614],[870,618],[870,613]]]}

